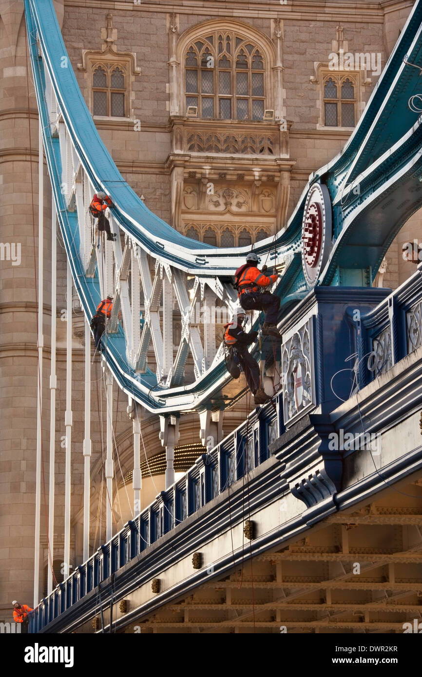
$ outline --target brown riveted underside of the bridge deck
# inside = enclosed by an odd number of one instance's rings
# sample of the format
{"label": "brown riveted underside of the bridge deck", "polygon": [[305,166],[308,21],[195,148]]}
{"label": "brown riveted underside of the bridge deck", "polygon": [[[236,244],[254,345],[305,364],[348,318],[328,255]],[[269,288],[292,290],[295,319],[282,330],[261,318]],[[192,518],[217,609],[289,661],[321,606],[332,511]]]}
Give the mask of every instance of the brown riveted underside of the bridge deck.
{"label": "brown riveted underside of the bridge deck", "polygon": [[[422,621],[422,510],[410,498],[421,486],[417,479],[337,512],[252,562],[245,538],[242,566],[117,632],[402,633],[404,623]],[[130,611],[131,595],[126,605]],[[106,609],[106,632],[109,621]],[[100,618],[97,630],[90,619],[76,632],[101,632]]]}

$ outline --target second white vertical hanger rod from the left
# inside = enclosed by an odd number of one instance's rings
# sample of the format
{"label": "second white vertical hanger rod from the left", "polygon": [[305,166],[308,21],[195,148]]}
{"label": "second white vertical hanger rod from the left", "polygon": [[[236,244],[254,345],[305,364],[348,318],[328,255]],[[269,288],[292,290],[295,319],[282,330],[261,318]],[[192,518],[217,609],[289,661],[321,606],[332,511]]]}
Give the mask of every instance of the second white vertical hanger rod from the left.
{"label": "second white vertical hanger rod from the left", "polygon": [[48,558],[47,593],[53,590],[54,558],[54,471],[56,450],[56,305],[57,305],[57,224],[56,204],[51,198],[51,368],[50,368],[50,456],[48,497],[48,540],[51,556]]}

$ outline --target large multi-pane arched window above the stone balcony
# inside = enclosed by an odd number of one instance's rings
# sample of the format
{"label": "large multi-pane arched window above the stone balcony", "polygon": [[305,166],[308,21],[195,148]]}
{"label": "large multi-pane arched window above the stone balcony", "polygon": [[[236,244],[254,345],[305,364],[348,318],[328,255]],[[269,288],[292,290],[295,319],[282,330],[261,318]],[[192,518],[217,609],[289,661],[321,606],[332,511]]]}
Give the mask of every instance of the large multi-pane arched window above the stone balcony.
{"label": "large multi-pane arched window above the stone balcony", "polygon": [[265,60],[258,45],[234,31],[215,31],[184,53],[185,100],[200,118],[262,120]]}

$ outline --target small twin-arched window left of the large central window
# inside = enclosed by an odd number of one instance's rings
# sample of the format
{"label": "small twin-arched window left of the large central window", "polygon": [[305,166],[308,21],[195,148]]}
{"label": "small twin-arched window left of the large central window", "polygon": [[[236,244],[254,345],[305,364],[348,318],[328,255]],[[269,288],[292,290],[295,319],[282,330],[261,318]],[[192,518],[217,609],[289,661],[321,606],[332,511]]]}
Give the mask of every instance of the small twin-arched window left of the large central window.
{"label": "small twin-arched window left of the large central window", "polygon": [[92,68],[93,115],[123,118],[127,115],[127,68],[102,62]]}

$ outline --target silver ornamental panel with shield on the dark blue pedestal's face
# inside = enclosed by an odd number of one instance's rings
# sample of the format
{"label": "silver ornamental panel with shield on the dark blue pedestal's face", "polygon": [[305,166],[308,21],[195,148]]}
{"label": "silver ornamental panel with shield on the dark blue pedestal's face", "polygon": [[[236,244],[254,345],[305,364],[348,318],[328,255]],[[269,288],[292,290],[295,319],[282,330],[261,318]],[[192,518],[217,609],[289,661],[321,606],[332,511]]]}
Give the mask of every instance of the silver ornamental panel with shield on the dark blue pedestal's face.
{"label": "silver ornamental panel with shield on the dark blue pedestal's face", "polygon": [[282,345],[284,424],[298,418],[315,403],[312,376],[312,321],[308,320]]}

